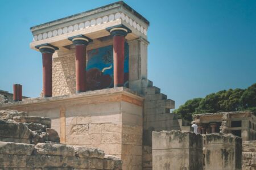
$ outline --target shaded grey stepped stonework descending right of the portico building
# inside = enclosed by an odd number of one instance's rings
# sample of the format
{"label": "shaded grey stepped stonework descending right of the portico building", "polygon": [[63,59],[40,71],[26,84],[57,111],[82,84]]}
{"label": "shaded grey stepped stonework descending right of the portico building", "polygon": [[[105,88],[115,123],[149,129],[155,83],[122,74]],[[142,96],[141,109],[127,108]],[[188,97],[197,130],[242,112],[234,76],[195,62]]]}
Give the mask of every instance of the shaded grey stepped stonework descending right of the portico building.
{"label": "shaded grey stepped stonework descending right of the portico building", "polygon": [[150,80],[143,80],[143,147],[142,168],[152,169],[152,131],[180,130],[177,115],[170,113],[175,108],[175,101],[162,94],[160,88],[153,86]]}

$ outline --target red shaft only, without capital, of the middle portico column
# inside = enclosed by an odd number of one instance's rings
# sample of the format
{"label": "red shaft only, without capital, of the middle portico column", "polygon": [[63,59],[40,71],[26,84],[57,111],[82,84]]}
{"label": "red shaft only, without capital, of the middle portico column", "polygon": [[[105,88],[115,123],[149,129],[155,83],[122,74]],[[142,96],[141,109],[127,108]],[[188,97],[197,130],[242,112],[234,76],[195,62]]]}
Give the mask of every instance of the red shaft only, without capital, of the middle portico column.
{"label": "red shaft only, without capital, of the middle portico column", "polygon": [[76,92],[86,91],[86,45],[76,45]]}

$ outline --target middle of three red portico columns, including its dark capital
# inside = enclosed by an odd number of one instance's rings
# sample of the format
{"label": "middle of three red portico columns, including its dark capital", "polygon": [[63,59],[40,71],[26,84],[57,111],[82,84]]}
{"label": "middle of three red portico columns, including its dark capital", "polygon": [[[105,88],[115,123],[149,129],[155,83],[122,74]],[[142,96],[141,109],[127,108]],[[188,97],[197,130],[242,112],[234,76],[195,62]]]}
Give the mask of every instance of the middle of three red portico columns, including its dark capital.
{"label": "middle of three red portico columns, including its dark capital", "polygon": [[84,35],[69,37],[76,48],[76,92],[86,91],[86,46],[91,39]]}

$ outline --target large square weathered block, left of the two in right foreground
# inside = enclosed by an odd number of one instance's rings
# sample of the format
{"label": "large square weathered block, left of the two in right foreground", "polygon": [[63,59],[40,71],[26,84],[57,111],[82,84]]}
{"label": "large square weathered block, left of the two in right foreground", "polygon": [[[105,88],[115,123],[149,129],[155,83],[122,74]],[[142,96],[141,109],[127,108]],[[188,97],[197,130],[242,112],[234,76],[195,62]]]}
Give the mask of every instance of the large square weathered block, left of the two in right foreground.
{"label": "large square weathered block, left of the two in right foreground", "polygon": [[192,132],[153,131],[153,170],[203,170],[203,138]]}

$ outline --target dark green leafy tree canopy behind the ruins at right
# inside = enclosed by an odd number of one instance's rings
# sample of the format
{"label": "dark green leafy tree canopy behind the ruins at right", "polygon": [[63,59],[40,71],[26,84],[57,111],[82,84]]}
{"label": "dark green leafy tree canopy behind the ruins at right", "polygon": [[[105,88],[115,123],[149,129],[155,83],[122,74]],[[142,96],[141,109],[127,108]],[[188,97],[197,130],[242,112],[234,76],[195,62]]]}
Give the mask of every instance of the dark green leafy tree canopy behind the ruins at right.
{"label": "dark green leafy tree canopy behind the ruins at right", "polygon": [[236,88],[209,94],[204,98],[188,100],[173,113],[191,121],[193,114],[235,112],[249,110],[256,113],[256,83],[245,90]]}

